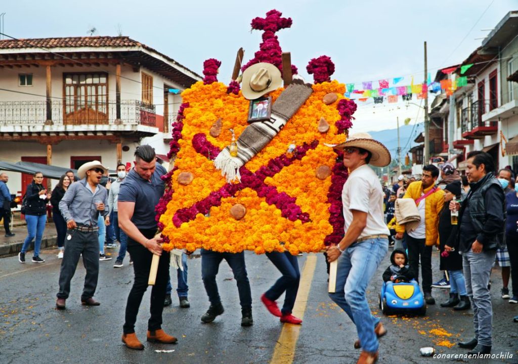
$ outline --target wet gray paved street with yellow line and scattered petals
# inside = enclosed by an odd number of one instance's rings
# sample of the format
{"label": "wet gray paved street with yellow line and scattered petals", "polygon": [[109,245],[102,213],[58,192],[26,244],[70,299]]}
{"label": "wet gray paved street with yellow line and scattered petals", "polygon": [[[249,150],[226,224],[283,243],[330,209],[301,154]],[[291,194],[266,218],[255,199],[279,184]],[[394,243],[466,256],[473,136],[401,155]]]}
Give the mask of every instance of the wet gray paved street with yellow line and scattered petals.
{"label": "wet gray paved street with yellow line and scattered petals", "polygon": [[[108,250],[112,256],[115,251]],[[434,253],[434,263],[438,262]],[[54,309],[60,261],[55,249],[41,254],[47,262],[20,264],[17,257],[0,259],[0,363],[354,363],[359,351],[353,348],[356,331],[350,320],[327,297],[327,275],[322,255],[298,257],[303,277],[295,315],[304,318],[300,327],[279,323],[260,303],[264,292],[279,273],[265,256],[247,253],[247,269],[252,287],[254,325],[242,328],[235,281],[228,265],[220,267],[218,284],[225,313],[212,324],[200,323],[208,308],[200,276],[200,259],[189,260],[190,309],[180,309],[178,300],[164,309],[164,329],[178,337],[176,345],[145,342],[144,351],[131,351],[121,343],[124,307],[132,284],[128,259],[124,267],[113,269],[113,260],[100,262],[99,284],[95,298],[99,307],[83,307],[80,293],[84,278],[82,263],[72,281],[67,310]],[[378,291],[382,271],[389,262],[385,257],[368,297],[378,313]],[[303,268],[304,267],[304,268]],[[434,270],[434,273],[437,270]],[[436,278],[439,274],[436,274]],[[176,276],[175,276],[176,277]],[[176,278],[173,279],[175,286]],[[492,276],[494,304],[493,353],[510,352],[513,359],[480,362],[518,362],[518,324],[512,317],[518,305],[499,296],[500,271]],[[434,289],[440,302],[447,290]],[[136,332],[146,338],[149,317],[149,290],[142,301]],[[381,314],[381,313],[380,313]],[[465,353],[453,346],[459,338],[472,337],[472,313],[454,312],[429,306],[426,317],[384,317],[389,334],[381,340],[380,363],[467,362],[420,356],[419,348],[434,346],[437,353]],[[453,346],[453,347],[448,347]],[[173,353],[155,353],[155,349],[174,349]]]}

